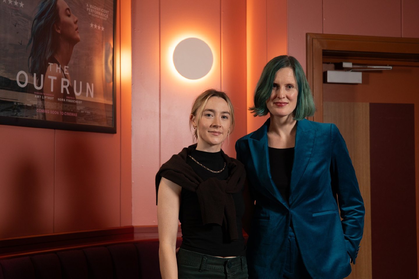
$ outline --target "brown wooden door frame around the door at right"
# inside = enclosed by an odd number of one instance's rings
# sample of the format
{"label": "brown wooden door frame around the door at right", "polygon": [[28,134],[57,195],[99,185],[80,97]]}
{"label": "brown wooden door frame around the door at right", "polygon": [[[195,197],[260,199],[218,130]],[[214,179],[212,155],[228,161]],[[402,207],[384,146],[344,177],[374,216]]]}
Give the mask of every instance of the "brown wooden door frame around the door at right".
{"label": "brown wooden door frame around the door at right", "polygon": [[307,33],[306,40],[307,79],[316,104],[313,120],[318,122],[323,122],[324,61],[346,56],[360,63],[419,66],[419,39]]}

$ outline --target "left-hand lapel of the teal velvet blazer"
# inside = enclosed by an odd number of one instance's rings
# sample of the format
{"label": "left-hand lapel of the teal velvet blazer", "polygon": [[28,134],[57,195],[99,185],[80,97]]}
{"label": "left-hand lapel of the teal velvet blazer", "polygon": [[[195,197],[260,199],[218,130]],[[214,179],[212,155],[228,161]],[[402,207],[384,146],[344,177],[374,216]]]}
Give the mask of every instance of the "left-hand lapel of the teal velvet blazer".
{"label": "left-hand lapel of the teal velvet blazer", "polygon": [[248,141],[250,152],[256,169],[256,176],[261,182],[260,186],[264,188],[259,190],[267,191],[268,194],[288,208],[288,203],[282,197],[274,181],[272,181],[271,167],[269,164],[268,135],[266,134],[269,123],[270,119],[267,119],[262,127],[257,129],[250,137]]}

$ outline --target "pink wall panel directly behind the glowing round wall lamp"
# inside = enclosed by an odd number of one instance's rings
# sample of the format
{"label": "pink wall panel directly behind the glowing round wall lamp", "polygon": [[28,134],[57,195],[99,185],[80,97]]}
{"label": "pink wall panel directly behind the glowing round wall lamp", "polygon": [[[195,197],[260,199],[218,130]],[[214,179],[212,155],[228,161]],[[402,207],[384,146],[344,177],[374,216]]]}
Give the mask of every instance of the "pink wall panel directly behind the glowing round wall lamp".
{"label": "pink wall panel directly behind the glowing round wall lamp", "polygon": [[[179,41],[197,37],[212,49],[210,72],[199,80],[186,80],[173,67]],[[220,2],[206,0],[160,1],[160,160],[192,143],[189,114],[194,98],[207,88],[220,88]],[[155,170],[157,171],[157,169]]]}

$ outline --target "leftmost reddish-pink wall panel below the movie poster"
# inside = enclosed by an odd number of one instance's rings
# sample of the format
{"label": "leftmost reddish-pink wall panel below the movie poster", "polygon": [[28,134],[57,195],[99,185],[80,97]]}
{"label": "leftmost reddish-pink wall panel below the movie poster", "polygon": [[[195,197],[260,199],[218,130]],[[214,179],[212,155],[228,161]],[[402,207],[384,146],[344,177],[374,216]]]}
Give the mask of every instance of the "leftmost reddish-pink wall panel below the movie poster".
{"label": "leftmost reddish-pink wall panel below the movie poster", "polygon": [[54,231],[54,130],[0,125],[0,238]]}

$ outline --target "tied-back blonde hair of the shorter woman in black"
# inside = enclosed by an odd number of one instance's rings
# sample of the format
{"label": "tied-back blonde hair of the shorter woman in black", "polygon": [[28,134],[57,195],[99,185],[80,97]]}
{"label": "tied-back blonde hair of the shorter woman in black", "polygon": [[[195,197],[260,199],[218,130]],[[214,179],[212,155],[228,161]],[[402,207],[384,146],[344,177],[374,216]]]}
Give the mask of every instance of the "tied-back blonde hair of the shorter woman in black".
{"label": "tied-back blonde hair of the shorter woman in black", "polygon": [[[208,89],[199,94],[199,96],[195,99],[192,109],[191,109],[191,115],[195,116],[195,122],[197,123],[197,129],[194,129],[193,132],[193,140],[194,142],[199,139],[199,122],[201,121],[202,112],[205,109],[205,106],[207,105],[207,102],[209,98],[211,97],[220,97],[224,99],[224,101],[227,102],[228,109],[230,109],[230,129],[228,131],[228,134],[230,135],[231,132],[233,132],[234,129],[234,109],[233,104],[230,101],[230,98],[228,98],[227,94],[222,91],[217,91],[215,89]],[[192,121],[189,120],[189,129],[192,128]]]}

